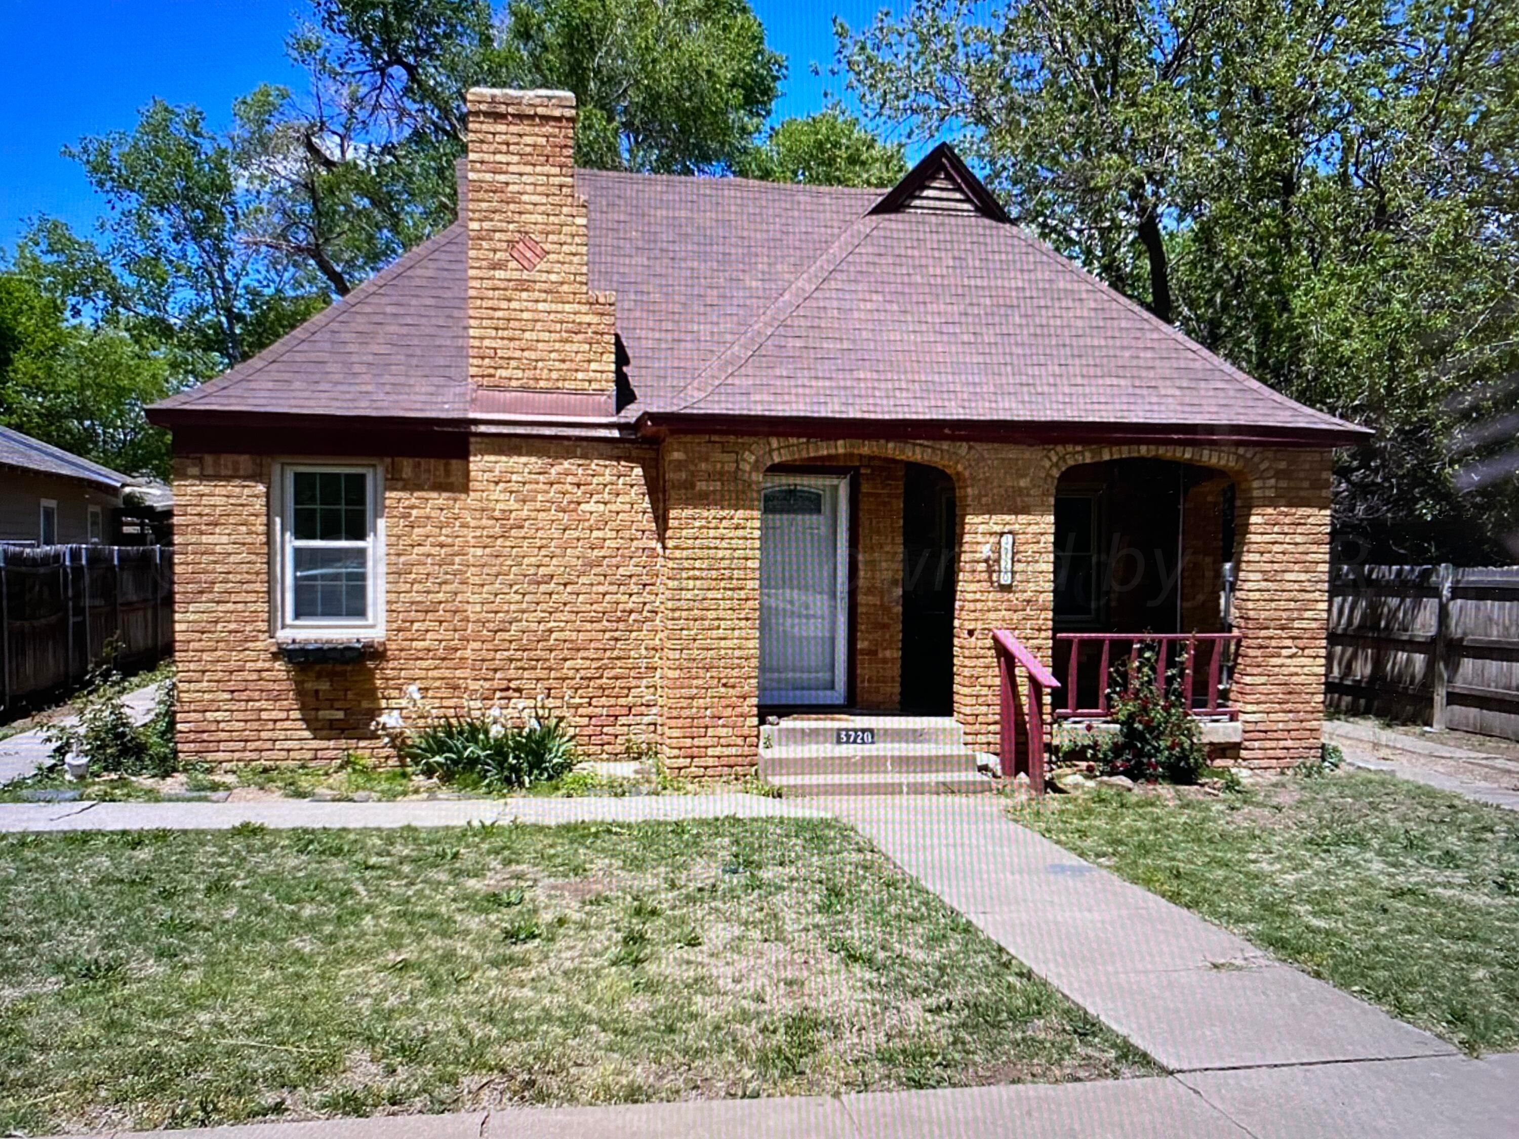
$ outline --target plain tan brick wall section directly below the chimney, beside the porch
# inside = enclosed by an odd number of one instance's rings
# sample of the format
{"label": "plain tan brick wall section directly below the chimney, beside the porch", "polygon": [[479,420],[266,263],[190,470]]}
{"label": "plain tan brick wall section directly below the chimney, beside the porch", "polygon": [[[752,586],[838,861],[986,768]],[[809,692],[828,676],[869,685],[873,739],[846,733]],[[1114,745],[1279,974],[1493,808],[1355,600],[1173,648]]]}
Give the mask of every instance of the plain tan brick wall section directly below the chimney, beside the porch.
{"label": "plain tan brick wall section directly below the chimney, beside the porch", "polygon": [[653,448],[475,436],[469,676],[547,697],[611,758],[656,743],[658,456]]}

